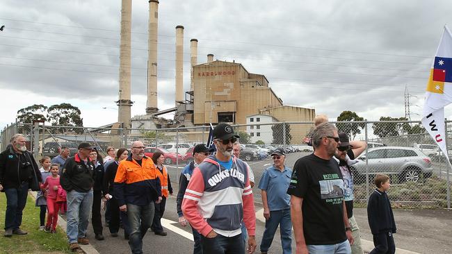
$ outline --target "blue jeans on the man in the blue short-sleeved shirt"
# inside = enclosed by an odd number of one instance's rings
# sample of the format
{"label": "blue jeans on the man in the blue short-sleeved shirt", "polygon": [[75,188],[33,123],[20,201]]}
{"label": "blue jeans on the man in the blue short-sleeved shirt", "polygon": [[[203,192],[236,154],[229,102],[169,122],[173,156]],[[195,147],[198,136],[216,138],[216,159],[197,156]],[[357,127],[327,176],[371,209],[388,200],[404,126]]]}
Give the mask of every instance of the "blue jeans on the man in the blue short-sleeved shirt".
{"label": "blue jeans on the man in the blue short-sleeved shirt", "polygon": [[262,236],[260,247],[262,252],[266,252],[270,248],[278,225],[280,225],[282,253],[292,253],[292,221],[290,209],[270,211],[270,218],[265,221],[265,230]]}

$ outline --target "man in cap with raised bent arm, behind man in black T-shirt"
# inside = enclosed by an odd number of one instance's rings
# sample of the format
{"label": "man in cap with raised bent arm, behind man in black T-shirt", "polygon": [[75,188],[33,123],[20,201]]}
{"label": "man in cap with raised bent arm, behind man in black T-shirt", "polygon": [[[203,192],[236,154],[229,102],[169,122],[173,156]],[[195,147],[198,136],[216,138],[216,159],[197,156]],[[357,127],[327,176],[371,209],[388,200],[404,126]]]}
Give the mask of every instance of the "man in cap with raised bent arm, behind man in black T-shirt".
{"label": "man in cap with raised bent arm, behind man in black T-shirt", "polygon": [[352,254],[362,254],[362,246],[360,239],[360,228],[353,216],[353,173],[350,165],[354,164],[353,159],[359,156],[366,150],[367,144],[364,141],[349,141],[346,133],[339,133],[339,141],[341,144],[337,147],[335,159],[339,160],[339,169],[341,169],[342,178],[344,179],[344,201],[346,203],[346,210],[348,216],[348,223],[352,230],[353,239],[355,242],[351,245]]}

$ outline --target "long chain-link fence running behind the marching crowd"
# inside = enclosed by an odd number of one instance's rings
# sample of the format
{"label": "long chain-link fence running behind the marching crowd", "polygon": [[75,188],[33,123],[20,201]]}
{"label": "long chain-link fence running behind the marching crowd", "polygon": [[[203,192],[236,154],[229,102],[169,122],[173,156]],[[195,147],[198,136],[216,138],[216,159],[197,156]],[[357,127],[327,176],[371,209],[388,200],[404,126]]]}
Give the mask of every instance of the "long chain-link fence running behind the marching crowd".
{"label": "long chain-link fence running behind the marching crowd", "polygon": [[[312,122],[263,123],[259,118],[253,124],[236,125],[240,136],[240,158],[250,164],[255,174],[255,201],[261,201],[258,188],[264,171],[271,167],[270,153],[276,148],[286,152],[285,164],[293,168],[296,160],[312,153],[306,137],[313,130]],[[363,140],[366,150],[357,154],[350,170],[353,172],[355,204],[365,206],[373,191],[373,178],[377,173],[386,173],[392,180],[388,195],[394,205],[401,208],[450,208],[450,164],[439,151],[435,141],[426,133],[419,121],[346,121],[334,122],[339,131],[347,133],[350,140]],[[2,150],[9,144],[10,136],[23,133],[27,141],[37,140],[42,155],[54,157],[61,146],[76,153],[80,142],[90,142],[105,155],[106,147],[131,146],[140,140],[145,154],[152,156],[163,151],[170,179],[177,184],[183,167],[193,160],[193,146],[207,143],[209,126],[168,129],[86,128],[65,126],[42,126],[13,124],[1,133]],[[452,121],[447,123],[446,143],[452,150]],[[37,143],[33,143],[37,144]],[[350,160],[351,162],[351,160]]]}

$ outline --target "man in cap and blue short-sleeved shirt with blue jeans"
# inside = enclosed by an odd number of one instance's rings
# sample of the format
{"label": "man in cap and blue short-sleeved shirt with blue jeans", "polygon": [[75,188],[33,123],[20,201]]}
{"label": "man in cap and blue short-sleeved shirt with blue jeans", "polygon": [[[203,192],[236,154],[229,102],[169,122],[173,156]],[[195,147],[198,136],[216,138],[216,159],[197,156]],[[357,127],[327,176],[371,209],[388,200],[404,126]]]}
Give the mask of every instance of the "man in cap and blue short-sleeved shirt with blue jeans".
{"label": "man in cap and blue short-sleeved shirt with blue jeans", "polygon": [[279,225],[282,253],[289,254],[292,253],[291,197],[286,191],[291,182],[292,169],[284,165],[286,153],[283,149],[275,149],[271,153],[271,157],[273,158],[273,166],[264,171],[259,182],[266,219],[261,253],[266,254],[268,252]]}

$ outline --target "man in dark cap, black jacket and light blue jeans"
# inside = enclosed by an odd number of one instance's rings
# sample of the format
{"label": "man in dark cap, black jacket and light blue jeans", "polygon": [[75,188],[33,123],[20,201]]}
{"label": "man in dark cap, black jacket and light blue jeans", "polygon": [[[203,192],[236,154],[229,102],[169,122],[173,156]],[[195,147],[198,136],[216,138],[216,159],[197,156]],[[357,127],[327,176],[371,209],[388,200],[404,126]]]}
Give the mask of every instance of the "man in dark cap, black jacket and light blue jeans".
{"label": "man in dark cap, black jacket and light blue jeans", "polygon": [[86,229],[92,208],[94,164],[89,155],[92,146],[79,144],[79,152],[67,158],[60,177],[60,184],[67,192],[67,239],[72,251],[81,251],[79,244],[89,244]]}

